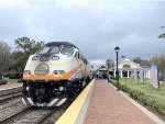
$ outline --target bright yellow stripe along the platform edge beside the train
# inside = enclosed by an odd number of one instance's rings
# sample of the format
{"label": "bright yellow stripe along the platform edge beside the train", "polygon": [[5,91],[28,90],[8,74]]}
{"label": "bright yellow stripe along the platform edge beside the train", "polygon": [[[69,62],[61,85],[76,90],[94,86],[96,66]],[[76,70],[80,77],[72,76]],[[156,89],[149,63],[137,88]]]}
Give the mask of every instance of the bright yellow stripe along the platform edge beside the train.
{"label": "bright yellow stripe along the platform edge beside the train", "polygon": [[86,101],[86,98],[94,82],[95,79],[90,81],[90,83],[84,89],[84,91],[77,97],[77,99],[70,104],[70,106],[55,124],[75,124],[75,121]]}

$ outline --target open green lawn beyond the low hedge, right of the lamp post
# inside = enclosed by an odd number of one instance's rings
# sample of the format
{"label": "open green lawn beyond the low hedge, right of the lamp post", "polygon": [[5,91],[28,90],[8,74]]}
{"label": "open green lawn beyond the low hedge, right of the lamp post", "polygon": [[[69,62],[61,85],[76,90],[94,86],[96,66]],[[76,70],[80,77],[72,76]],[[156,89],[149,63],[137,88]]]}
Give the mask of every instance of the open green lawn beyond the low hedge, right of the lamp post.
{"label": "open green lawn beyond the low hedge, right of the lamp post", "polygon": [[162,82],[160,84],[160,89],[154,89],[151,84],[150,84],[150,80],[145,79],[144,83],[135,83],[133,78],[130,79],[120,79],[120,83],[121,84],[127,84],[127,87],[134,89],[134,90],[139,90],[144,92],[145,95],[156,99],[157,101],[160,101],[161,103],[165,104],[165,82]]}

